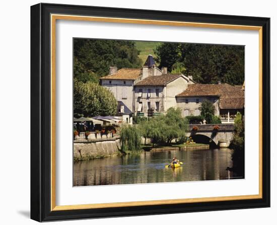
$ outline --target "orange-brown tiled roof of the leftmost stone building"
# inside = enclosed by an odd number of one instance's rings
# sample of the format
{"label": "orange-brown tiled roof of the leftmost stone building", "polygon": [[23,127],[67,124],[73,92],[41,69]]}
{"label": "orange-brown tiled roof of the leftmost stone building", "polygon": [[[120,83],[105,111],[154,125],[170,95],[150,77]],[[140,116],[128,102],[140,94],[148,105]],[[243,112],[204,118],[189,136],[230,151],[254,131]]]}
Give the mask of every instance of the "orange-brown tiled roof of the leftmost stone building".
{"label": "orange-brown tiled roof of the leftmost stone building", "polygon": [[141,75],[140,68],[121,68],[117,72],[102,77],[103,80],[135,80]]}

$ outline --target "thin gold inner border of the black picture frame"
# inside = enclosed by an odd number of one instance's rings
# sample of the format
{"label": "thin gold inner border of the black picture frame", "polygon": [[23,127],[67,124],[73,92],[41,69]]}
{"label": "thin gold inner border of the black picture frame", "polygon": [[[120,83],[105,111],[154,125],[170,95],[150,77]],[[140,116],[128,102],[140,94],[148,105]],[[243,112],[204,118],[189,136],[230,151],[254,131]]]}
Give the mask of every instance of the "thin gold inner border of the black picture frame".
{"label": "thin gold inner border of the black picture frame", "polygon": [[[134,201],[134,202],[114,202],[99,204],[82,204],[82,205],[56,205],[56,186],[55,186],[55,29],[56,20],[78,20],[94,21],[108,23],[132,23],[132,24],[151,24],[163,26],[185,26],[200,28],[221,28],[236,30],[255,30],[259,31],[259,194],[257,195],[238,195],[224,197],[204,197],[204,198],[187,198],[187,199],[166,199],[154,201]],[[210,23],[192,23],[160,20],[141,20],[125,18],[108,18],[108,17],[89,17],[89,16],[72,16],[72,15],[51,15],[51,211],[72,210],[72,209],[92,209],[107,207],[130,207],[144,205],[160,204],[178,204],[192,202],[211,202],[211,201],[230,201],[262,198],[262,27],[229,25],[229,24],[210,24]]]}

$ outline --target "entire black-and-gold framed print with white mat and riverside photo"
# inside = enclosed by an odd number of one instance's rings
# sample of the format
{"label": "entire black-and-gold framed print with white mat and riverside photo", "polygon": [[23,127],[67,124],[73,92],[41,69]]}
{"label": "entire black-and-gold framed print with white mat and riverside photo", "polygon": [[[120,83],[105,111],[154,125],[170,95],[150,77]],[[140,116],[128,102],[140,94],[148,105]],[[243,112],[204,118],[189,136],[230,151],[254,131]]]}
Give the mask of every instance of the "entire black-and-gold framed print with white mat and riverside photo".
{"label": "entire black-and-gold framed print with white mat and riverside photo", "polygon": [[270,206],[269,18],[31,7],[31,218]]}

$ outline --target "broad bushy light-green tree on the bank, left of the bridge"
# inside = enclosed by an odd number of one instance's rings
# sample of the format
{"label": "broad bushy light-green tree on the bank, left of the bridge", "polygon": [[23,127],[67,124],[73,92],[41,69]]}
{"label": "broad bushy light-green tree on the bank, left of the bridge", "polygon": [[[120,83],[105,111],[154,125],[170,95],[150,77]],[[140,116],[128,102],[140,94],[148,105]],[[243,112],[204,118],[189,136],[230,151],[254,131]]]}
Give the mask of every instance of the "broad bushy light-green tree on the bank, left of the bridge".
{"label": "broad bushy light-green tree on the bank, left of the bridge", "polygon": [[159,115],[142,122],[141,133],[145,138],[151,138],[154,144],[169,144],[174,138],[185,139],[188,130],[187,120],[181,116],[180,109],[169,108],[166,115]]}

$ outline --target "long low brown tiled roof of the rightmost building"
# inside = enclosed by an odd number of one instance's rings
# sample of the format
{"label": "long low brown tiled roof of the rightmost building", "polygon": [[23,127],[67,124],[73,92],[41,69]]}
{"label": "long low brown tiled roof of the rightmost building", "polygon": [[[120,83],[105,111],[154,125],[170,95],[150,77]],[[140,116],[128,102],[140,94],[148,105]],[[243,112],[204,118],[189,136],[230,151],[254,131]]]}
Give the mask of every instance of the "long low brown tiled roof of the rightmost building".
{"label": "long low brown tiled roof of the rightmost building", "polygon": [[194,84],[178,94],[176,97],[220,97],[221,109],[242,109],[244,107],[244,91],[238,87],[220,84]]}

